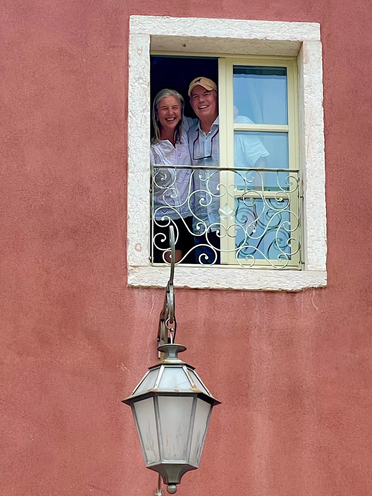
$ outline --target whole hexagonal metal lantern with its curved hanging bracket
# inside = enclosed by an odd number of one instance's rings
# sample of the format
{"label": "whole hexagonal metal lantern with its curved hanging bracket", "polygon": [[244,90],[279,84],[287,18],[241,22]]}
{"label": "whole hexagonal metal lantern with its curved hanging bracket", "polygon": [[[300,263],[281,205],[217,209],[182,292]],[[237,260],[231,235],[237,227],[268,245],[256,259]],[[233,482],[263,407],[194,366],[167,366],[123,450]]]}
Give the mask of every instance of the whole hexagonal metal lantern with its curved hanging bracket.
{"label": "whole hexagonal metal lantern with its curved hanging bracket", "polygon": [[[170,239],[171,277],[158,331],[161,360],[149,367],[132,394],[123,400],[132,409],[146,467],[159,474],[158,495],[161,495],[160,477],[167,484],[168,493],[174,494],[183,475],[198,468],[212,408],[220,404],[195,368],[178,357],[186,347],[174,344],[177,323],[173,292],[173,227],[170,227]],[[149,398],[152,402],[147,401]],[[174,401],[170,404],[165,398],[174,398]],[[179,417],[170,414],[171,410]],[[170,457],[171,453],[175,456]]]}

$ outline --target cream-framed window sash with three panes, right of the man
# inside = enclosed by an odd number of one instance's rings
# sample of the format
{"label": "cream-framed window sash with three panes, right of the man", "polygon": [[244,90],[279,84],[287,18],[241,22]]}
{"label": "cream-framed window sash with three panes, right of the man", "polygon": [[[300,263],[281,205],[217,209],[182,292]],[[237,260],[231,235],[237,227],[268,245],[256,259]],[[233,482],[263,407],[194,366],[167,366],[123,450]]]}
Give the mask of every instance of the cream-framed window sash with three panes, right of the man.
{"label": "cream-framed window sash with three panes, right of the man", "polygon": [[[222,58],[220,66],[226,87],[220,99],[221,148],[225,167],[235,167],[222,182],[227,236],[221,238],[221,259],[301,269],[296,61]],[[251,162],[259,156],[260,163],[250,164],[247,153]]]}

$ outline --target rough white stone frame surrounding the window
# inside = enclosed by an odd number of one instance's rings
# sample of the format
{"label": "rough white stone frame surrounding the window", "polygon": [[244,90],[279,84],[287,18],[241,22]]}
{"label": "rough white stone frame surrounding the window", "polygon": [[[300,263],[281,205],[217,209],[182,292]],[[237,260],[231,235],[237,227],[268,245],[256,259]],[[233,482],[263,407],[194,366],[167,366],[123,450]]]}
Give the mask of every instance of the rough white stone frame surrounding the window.
{"label": "rough white stone frame surrounding the window", "polygon": [[[202,36],[200,36],[202,35]],[[178,265],[175,286],[300,291],[326,286],[323,82],[316,22],[132,15],[129,21],[127,284],[164,287],[168,266],[153,266],[150,248],[150,50],[297,56],[303,270]]]}

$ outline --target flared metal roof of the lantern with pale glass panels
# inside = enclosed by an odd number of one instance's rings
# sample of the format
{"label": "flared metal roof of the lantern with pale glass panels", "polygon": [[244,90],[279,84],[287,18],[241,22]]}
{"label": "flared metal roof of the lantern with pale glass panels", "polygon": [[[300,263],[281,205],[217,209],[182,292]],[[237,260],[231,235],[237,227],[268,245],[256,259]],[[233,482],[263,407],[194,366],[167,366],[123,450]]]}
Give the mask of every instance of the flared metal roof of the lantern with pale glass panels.
{"label": "flared metal roof of the lantern with pale glass panels", "polygon": [[190,393],[198,395],[213,406],[221,403],[211,395],[194,367],[178,358],[178,353],[186,350],[185,346],[165,344],[159,346],[158,350],[165,354],[165,358],[149,367],[148,372],[142,377],[132,394],[123,400],[123,403],[130,405],[133,401],[154,394],[186,395]]}

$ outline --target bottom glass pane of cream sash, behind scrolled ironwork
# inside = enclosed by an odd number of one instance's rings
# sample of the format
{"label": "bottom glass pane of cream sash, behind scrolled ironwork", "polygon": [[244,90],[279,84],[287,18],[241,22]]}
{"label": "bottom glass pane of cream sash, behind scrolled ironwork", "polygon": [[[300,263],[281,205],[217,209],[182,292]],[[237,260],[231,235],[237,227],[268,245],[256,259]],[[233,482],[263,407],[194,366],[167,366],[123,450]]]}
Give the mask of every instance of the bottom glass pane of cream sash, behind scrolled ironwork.
{"label": "bottom glass pane of cream sash, behind scrolled ironwork", "polygon": [[[285,195],[283,195],[285,196]],[[289,198],[236,198],[235,246],[236,257],[249,262],[255,260],[291,259],[291,252],[298,250],[298,217],[292,216],[290,224]],[[290,243],[293,248],[291,250]],[[278,258],[278,255],[279,258]]]}

